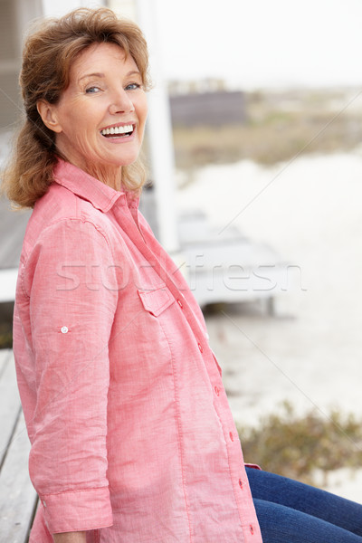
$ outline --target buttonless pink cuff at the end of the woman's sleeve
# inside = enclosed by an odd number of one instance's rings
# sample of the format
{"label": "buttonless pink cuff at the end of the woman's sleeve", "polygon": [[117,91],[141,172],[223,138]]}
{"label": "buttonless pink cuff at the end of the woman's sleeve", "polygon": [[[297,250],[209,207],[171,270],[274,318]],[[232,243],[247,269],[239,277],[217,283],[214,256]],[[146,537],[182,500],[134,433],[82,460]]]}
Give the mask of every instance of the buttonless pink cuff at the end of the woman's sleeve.
{"label": "buttonless pink cuff at the end of the woman's sleeve", "polygon": [[52,534],[107,528],[113,524],[108,487],[40,496]]}

